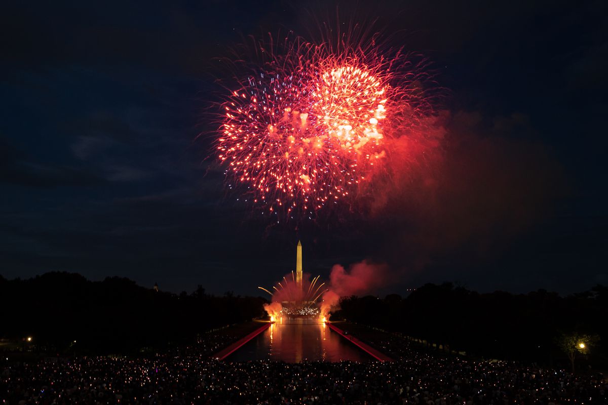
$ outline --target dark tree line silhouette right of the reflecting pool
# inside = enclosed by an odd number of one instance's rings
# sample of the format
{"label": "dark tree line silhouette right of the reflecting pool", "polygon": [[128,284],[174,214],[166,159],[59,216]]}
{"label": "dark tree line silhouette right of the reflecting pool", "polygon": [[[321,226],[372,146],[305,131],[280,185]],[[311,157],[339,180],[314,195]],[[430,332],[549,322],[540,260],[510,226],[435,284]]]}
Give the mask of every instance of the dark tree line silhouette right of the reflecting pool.
{"label": "dark tree line silhouette right of the reflecting pool", "polygon": [[579,352],[591,364],[608,364],[608,287],[602,285],[562,297],[545,290],[480,294],[451,283],[426,284],[407,298],[342,298],[335,318],[401,333],[437,349],[551,366],[568,363],[564,336],[592,336],[589,350]]}

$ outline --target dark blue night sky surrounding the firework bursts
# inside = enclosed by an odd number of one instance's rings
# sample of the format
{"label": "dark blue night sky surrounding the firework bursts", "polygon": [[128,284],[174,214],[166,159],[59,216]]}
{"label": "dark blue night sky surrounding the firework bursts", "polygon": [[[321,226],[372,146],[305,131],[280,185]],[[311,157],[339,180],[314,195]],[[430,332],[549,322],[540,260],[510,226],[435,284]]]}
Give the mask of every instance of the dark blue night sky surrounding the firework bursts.
{"label": "dark blue night sky surrounding the firework bursts", "polygon": [[347,24],[377,19],[392,46],[429,58],[444,162],[431,191],[404,184],[373,213],[297,226],[227,192],[209,111],[230,47],[307,36],[335,5],[60,3],[0,8],[2,276],[258,294],[294,270],[301,238],[305,271],[325,278],[384,264],[371,293],[608,284],[605,1],[339,4]]}

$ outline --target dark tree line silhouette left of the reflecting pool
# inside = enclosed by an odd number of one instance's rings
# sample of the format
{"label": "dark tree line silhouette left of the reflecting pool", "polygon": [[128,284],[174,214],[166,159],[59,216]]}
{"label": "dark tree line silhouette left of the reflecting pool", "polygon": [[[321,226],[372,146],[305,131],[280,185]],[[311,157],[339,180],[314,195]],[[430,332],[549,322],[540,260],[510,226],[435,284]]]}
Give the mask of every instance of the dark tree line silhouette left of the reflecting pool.
{"label": "dark tree line silhouette left of the reflecting pool", "polygon": [[189,344],[210,329],[264,316],[263,298],[154,291],[123,277],[88,281],[75,273],[0,276],[0,338],[33,336],[52,353],[133,353]]}

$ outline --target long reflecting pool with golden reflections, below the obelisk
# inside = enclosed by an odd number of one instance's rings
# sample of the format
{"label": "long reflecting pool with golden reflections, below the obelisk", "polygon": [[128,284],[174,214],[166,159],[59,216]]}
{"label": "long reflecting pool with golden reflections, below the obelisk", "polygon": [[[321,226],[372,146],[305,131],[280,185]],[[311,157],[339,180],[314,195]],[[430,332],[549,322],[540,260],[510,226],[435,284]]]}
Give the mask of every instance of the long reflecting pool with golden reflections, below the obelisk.
{"label": "long reflecting pool with golden reflections, below the obelisk", "polygon": [[317,318],[283,317],[226,360],[301,362],[370,359],[367,353],[337,333],[331,332],[330,328]]}

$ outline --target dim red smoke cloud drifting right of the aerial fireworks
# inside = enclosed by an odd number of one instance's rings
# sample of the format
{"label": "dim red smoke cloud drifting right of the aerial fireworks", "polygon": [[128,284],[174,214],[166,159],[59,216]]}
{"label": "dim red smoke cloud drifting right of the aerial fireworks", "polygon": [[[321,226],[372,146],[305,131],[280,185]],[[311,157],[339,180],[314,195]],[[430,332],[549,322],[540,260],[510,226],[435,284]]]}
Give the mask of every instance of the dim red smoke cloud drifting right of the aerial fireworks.
{"label": "dim red smoke cloud drifting right of the aerial fireworks", "polygon": [[390,175],[374,179],[365,207],[362,231],[373,235],[366,253],[389,264],[399,282],[424,282],[423,270],[465,279],[492,271],[492,260],[545,223],[569,192],[527,117],[456,112],[441,124],[441,148],[426,148],[420,164],[408,158],[416,145],[395,142]]}

